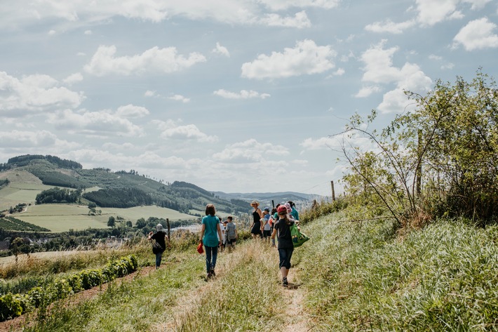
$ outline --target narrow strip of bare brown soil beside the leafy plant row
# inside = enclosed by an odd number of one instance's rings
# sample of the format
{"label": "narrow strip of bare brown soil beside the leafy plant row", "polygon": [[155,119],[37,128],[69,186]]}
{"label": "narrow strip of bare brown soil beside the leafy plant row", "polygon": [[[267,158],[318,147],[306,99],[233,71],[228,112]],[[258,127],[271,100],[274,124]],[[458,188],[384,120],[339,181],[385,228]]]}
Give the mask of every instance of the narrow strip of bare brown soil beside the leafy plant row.
{"label": "narrow strip of bare brown soil beside the leafy plant row", "polygon": [[[137,275],[149,274],[150,272],[155,270],[156,270],[155,266],[142,267],[140,270],[130,273],[125,277],[118,278],[113,282],[120,284],[123,281],[130,281],[131,279],[137,277]],[[84,300],[88,300],[105,292],[107,286],[109,286],[109,284],[103,284],[102,286],[95,286],[93,288],[87,289],[86,291],[81,291],[72,296],[69,296],[69,298],[66,298],[62,301],[64,301],[67,304],[67,306],[77,305],[78,303],[81,303]],[[23,326],[29,324],[29,321],[27,321],[27,317],[29,317],[29,320],[32,320],[35,316],[36,316],[36,311],[29,312],[28,314],[23,314],[20,317],[15,317],[14,319],[9,319],[8,321],[1,321],[0,332],[22,331]]]}

